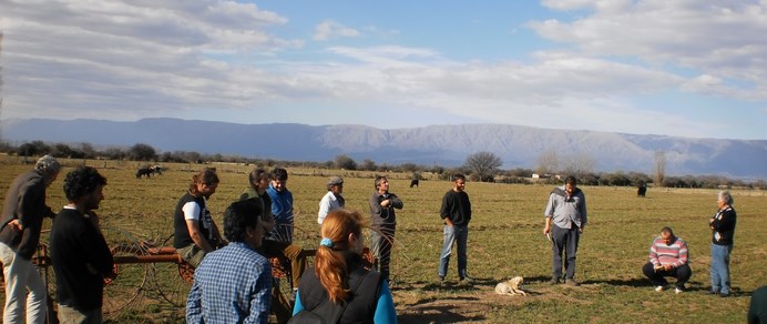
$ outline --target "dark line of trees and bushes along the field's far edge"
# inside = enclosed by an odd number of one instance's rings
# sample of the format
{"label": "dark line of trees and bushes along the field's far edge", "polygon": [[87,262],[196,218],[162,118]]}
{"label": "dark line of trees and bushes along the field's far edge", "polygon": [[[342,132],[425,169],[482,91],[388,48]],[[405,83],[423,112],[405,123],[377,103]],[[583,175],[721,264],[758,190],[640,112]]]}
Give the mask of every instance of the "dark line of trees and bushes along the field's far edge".
{"label": "dark line of trees and bushes along the field's far edge", "polygon": [[[208,162],[229,162],[247,163],[255,165],[283,165],[294,168],[314,169],[340,169],[349,171],[374,171],[374,172],[403,172],[411,173],[413,179],[421,179],[422,173],[436,174],[438,179],[447,180],[450,174],[463,173],[472,181],[482,182],[503,182],[503,183],[549,183],[559,184],[561,180],[556,175],[575,175],[579,183],[583,185],[607,185],[607,186],[665,186],[665,188],[746,188],[767,190],[767,182],[758,180],[746,182],[744,180],[728,179],[722,175],[683,175],[669,176],[665,174],[665,153],[655,153],[655,170],[648,175],[642,172],[595,172],[593,171],[596,162],[586,154],[575,154],[572,156],[560,156],[554,151],[541,153],[535,169],[514,168],[503,170],[503,161],[492,152],[475,152],[469,154],[464,163],[460,166],[446,168],[438,164],[423,165],[417,163],[388,164],[377,163],[374,160],[365,159],[361,162],[355,161],[346,154],[337,155],[334,160],[324,162],[313,161],[280,161],[275,159],[245,158],[239,155],[203,154],[191,151],[167,151],[158,152],[152,145],[136,143],[130,148],[109,146],[96,149],[90,143],[65,144],[45,143],[43,141],[32,141],[13,146],[8,143],[0,144],[0,152],[16,154],[19,156],[40,156],[51,154],[57,158],[68,159],[91,159],[91,160],[131,160],[146,161],[156,163],[208,163]],[[541,178],[533,180],[533,174]]]}

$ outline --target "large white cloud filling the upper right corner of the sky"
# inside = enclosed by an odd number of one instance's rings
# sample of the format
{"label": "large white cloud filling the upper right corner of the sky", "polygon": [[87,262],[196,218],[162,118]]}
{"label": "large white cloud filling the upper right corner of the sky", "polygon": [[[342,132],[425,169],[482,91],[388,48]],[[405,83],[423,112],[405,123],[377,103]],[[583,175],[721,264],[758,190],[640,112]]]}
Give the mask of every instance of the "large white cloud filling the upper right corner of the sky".
{"label": "large white cloud filling the upper right corner of the sky", "polygon": [[637,58],[722,80],[747,80],[757,85],[733,91],[728,88],[737,85],[725,81],[715,92],[767,99],[767,1],[551,0],[544,4],[593,10],[574,21],[529,23],[544,38],[574,44],[579,54]]}

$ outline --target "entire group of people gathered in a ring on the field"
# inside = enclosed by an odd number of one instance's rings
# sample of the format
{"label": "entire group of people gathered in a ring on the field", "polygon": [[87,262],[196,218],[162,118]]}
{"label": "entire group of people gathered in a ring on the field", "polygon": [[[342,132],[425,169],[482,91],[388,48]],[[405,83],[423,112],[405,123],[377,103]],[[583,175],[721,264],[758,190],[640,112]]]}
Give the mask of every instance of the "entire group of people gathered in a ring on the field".
{"label": "entire group of people gathered in a ring on the field", "polygon": [[[104,199],[106,179],[89,166],[79,166],[64,179],[68,204],[57,214],[45,204],[45,190],[55,181],[61,164],[52,156],[38,160],[34,169],[20,174],[10,185],[0,215],[0,261],[6,279],[4,323],[44,323],[47,291],[37,274],[32,255],[38,249],[43,217],[54,217],[50,234],[50,256],[57,275],[59,320],[67,323],[101,323],[103,279],[113,275],[113,260],[94,212]],[[266,323],[269,312],[280,323],[289,318],[321,317],[326,321],[376,323],[396,322],[389,290],[391,250],[397,226],[396,210],[403,202],[389,192],[386,176],[375,178],[369,200],[371,247],[376,271],[361,261],[365,237],[362,216],[345,209],[344,180],[331,178],[328,193],[319,203],[321,241],[315,266],[307,269],[306,253],[293,244],[293,194],[288,173],[255,169],[248,186],[224,212],[224,235],[207,209],[207,199],[219,180],[215,169],[192,176],[174,213],[174,247],[196,267],[187,300],[191,323]],[[443,246],[438,279],[444,282],[453,245],[458,250],[458,276],[468,275],[467,250],[471,202],[466,176],[451,176],[440,207]],[[712,230],[710,293],[728,296],[729,254],[736,213],[727,191],[718,194],[718,211],[709,220]],[[587,223],[586,200],[575,178],[549,195],[543,234],[552,242],[551,284],[577,286],[575,261],[580,236]],[[684,292],[692,276],[687,244],[668,226],[650,249],[643,273],[663,291],[666,276],[677,279],[676,293]],[[295,304],[273,303],[273,277],[268,257],[290,260]],[[564,272],[563,272],[564,270]],[[351,298],[350,296],[354,296]],[[335,323],[333,322],[333,323]]]}

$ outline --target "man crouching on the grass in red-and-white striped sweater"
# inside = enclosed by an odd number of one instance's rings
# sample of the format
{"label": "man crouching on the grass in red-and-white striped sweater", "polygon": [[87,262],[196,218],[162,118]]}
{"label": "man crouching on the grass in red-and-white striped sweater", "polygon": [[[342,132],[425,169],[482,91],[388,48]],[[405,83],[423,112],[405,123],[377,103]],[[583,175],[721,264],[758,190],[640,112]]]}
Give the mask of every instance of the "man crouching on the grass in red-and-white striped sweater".
{"label": "man crouching on the grass in red-and-white striped sweater", "polygon": [[679,294],[685,291],[685,283],[693,276],[688,262],[687,242],[674,235],[674,231],[666,226],[650,246],[650,262],[642,267],[642,273],[653,282],[656,292],[662,292],[668,283],[664,277],[675,277],[674,292]]}

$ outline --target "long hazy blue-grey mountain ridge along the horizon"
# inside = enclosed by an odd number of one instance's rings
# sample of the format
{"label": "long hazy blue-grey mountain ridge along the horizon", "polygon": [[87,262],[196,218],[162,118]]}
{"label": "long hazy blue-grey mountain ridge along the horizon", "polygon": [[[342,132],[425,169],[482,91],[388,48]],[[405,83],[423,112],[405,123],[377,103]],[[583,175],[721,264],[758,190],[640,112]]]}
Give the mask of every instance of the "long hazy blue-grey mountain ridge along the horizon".
{"label": "long hazy blue-grey mountain ridge along the horizon", "polygon": [[238,124],[181,119],[3,120],[2,136],[23,143],[47,142],[131,146],[158,151],[196,151],[294,161],[328,161],[347,154],[360,162],[456,166],[479,151],[501,156],[503,168],[536,166],[546,150],[586,154],[597,171],[652,173],[654,152],[666,152],[669,175],[720,174],[767,179],[767,140],[688,139],[519,125],[463,124],[381,130],[364,125],[313,126],[294,123]]}

